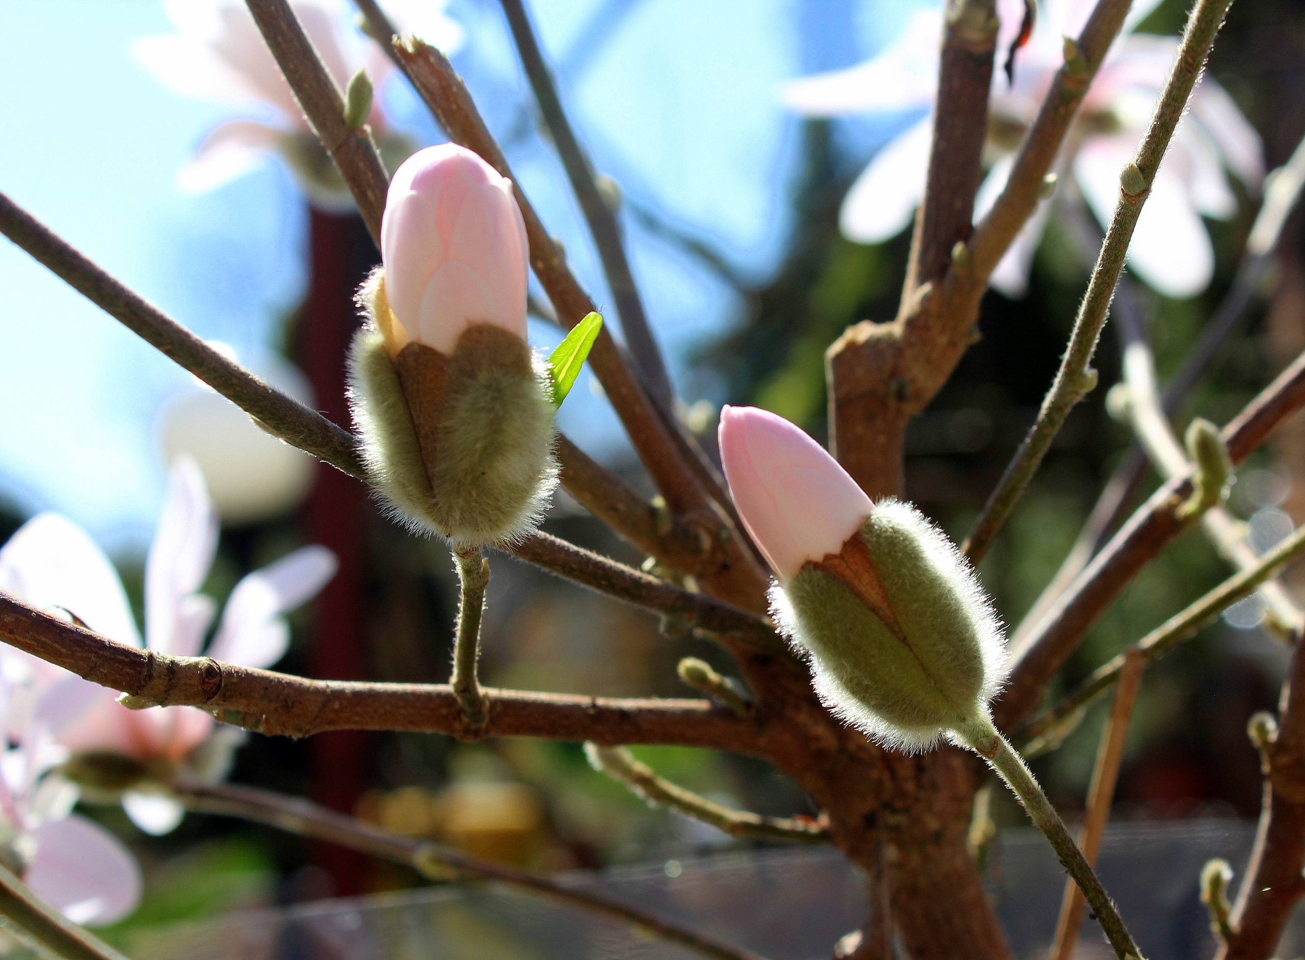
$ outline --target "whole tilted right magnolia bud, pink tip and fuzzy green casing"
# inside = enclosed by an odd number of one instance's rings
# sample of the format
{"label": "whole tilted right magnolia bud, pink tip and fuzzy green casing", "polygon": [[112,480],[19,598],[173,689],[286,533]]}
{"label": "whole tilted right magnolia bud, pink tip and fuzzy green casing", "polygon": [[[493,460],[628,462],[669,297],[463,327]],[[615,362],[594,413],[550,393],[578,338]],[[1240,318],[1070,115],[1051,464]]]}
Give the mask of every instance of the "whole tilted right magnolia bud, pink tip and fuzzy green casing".
{"label": "whole tilted right magnolia bud, pink tip and fuzzy green casing", "polygon": [[870,503],[818,443],[760,410],[726,408],[726,477],[779,578],[776,621],[810,653],[821,700],[907,750],[987,720],[1005,674],[1001,625],[974,571],[908,503]]}

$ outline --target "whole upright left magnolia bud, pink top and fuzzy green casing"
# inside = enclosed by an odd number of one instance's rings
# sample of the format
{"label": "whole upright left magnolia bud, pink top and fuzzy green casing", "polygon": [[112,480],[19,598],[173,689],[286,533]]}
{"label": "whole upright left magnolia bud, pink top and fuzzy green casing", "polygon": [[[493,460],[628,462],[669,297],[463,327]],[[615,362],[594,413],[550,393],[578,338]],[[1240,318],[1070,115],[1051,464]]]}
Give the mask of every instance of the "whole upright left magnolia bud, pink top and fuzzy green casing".
{"label": "whole upright left magnolia bud, pink top and fuzzy green casing", "polygon": [[373,483],[398,517],[458,548],[523,536],[557,467],[512,183],[459,146],[414,154],[390,183],[381,254],[350,356]]}

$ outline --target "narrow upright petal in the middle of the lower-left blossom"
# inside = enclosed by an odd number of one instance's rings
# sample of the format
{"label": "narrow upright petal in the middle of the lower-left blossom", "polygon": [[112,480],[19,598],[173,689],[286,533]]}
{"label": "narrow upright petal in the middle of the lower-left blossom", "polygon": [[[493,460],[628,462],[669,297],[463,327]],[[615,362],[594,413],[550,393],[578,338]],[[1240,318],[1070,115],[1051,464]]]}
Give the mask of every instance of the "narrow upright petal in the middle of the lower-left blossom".
{"label": "narrow upright petal in the middle of the lower-left blossom", "polygon": [[177,458],[168,476],[163,515],[145,561],[145,638],[150,650],[175,652],[184,642],[183,601],[204,584],[218,548],[218,515],[200,467]]}

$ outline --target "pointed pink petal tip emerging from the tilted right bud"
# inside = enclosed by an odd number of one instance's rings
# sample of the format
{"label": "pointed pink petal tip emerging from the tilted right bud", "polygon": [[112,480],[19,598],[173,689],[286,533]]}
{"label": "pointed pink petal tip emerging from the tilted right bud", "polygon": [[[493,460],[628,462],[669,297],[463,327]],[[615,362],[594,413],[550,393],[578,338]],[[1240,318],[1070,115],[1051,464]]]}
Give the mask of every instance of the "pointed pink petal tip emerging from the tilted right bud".
{"label": "pointed pink petal tip emerging from the tilted right bud", "polygon": [[753,543],[780,580],[843,548],[872,510],[825,447],[756,407],[720,411],[720,459]]}

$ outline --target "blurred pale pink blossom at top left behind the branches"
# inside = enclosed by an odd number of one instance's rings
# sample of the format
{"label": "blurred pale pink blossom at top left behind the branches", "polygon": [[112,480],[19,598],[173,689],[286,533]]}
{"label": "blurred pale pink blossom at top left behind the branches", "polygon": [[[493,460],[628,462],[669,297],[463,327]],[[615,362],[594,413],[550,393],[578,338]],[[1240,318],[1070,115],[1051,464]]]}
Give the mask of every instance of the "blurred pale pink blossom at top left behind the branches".
{"label": "blurred pale pink blossom at top left behind the branches", "polygon": [[[398,29],[445,53],[462,44],[462,29],[444,14],[446,0],[384,5]],[[402,160],[414,145],[390,129],[381,106],[381,87],[394,72],[385,51],[358,30],[356,10],[347,0],[291,0],[290,7],[341,90],[358,69],[367,69],[376,90],[368,123],[389,166],[397,166],[394,160]],[[141,38],[133,46],[136,59],[183,97],[227,103],[240,113],[209,133],[183,168],[181,188],[219,187],[278,154],[313,203],[350,209],[345,181],[304,119],[244,0],[164,0],[164,9],[176,33]]]}

